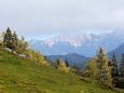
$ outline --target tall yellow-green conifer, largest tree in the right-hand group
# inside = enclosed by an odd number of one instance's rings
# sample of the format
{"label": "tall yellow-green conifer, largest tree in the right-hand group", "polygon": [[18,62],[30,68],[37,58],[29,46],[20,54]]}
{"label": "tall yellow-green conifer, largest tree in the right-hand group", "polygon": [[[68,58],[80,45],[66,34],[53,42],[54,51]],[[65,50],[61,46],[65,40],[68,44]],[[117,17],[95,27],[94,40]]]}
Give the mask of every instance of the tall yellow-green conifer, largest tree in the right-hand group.
{"label": "tall yellow-green conifer, largest tree in the right-hand group", "polygon": [[109,58],[105,54],[102,48],[99,48],[98,50],[96,63],[98,69],[96,80],[99,81],[101,84],[112,87],[111,69],[108,66]]}

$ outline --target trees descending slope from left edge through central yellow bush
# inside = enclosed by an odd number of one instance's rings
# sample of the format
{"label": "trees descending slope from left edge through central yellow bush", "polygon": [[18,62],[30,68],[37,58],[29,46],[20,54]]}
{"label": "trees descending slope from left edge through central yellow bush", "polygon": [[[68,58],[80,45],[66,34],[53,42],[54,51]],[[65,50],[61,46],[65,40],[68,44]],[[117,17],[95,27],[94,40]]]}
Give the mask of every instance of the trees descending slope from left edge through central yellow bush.
{"label": "trees descending slope from left edge through central yellow bush", "polygon": [[[13,53],[29,57],[32,61],[45,65],[50,65],[45,56],[43,56],[39,51],[33,51],[29,48],[28,42],[25,40],[24,36],[18,39],[16,32],[12,32],[9,27],[1,35],[0,45],[2,48],[12,50]],[[63,59],[53,61],[51,66],[67,72],[70,71],[70,66],[67,59],[66,62],[64,62]]]}

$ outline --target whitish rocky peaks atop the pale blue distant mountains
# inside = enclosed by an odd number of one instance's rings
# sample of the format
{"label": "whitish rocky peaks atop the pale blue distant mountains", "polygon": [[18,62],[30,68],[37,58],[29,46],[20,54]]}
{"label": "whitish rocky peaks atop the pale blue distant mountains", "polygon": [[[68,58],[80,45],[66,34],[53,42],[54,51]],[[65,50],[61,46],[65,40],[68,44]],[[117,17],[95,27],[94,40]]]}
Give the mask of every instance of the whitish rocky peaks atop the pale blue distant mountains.
{"label": "whitish rocky peaks atop the pale blue distant mountains", "polygon": [[70,43],[73,46],[81,46],[81,43],[85,41],[91,41],[92,36],[89,34],[82,34],[82,35],[61,35],[52,39],[47,39],[44,41],[45,44],[50,46],[61,42],[61,43]]}

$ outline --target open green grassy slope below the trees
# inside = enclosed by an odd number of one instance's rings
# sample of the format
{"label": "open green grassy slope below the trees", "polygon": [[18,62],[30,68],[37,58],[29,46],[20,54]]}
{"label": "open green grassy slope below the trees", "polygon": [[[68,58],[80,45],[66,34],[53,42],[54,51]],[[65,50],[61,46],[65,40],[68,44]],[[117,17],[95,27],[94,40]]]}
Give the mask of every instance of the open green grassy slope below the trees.
{"label": "open green grassy slope below the trees", "polygon": [[0,49],[0,93],[114,93]]}

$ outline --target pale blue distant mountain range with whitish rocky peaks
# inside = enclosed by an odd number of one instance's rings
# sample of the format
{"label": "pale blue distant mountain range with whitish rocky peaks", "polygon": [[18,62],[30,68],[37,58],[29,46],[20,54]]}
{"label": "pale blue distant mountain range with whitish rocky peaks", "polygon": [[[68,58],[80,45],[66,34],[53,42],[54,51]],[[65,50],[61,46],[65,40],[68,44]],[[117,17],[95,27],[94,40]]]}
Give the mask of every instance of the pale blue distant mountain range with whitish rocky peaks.
{"label": "pale blue distant mountain range with whitish rocky peaks", "polygon": [[116,49],[124,42],[123,36],[120,37],[115,31],[111,34],[70,34],[61,35],[47,40],[30,40],[29,46],[36,51],[41,51],[44,55],[64,55],[77,53],[87,57],[93,57],[99,46],[106,53]]}

